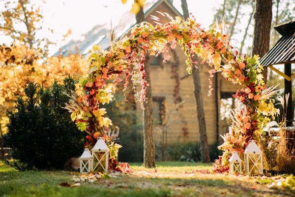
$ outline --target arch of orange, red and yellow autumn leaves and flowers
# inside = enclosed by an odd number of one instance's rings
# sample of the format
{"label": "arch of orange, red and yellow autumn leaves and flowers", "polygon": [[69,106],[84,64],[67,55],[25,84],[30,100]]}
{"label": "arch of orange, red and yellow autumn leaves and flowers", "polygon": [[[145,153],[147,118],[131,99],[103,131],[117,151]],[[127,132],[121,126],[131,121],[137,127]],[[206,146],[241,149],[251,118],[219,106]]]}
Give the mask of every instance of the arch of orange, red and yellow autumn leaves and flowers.
{"label": "arch of orange, red and yellow autumn leaves and flowers", "polygon": [[[219,147],[224,151],[223,164],[227,165],[233,151],[241,155],[248,140],[259,141],[262,128],[269,121],[266,117],[274,117],[277,113],[273,100],[270,99],[275,91],[266,88],[264,84],[259,57],[248,57],[234,50],[227,34],[219,30],[218,26],[205,31],[195,19],[184,21],[180,17],[173,19],[166,16],[171,22],[157,23],[156,26],[149,23],[135,26],[120,40],[112,43],[109,51],[100,52],[98,46],[93,47],[88,60],[89,73],[80,78],[76,84],[76,94],[67,104],[72,112],[71,118],[81,131],[89,134],[86,146],[91,146],[94,137],[97,137],[95,135],[100,134],[100,129],[112,124],[106,117],[103,104],[112,100],[116,84],[121,81],[119,76],[125,74],[124,87],[129,78],[133,83],[141,83],[142,90],[136,96],[143,106],[148,86],[145,80],[145,55],[149,53],[157,56],[162,53],[165,62],[170,58],[169,49],[174,49],[178,44],[187,56],[188,73],[192,72],[194,64],[198,64],[193,58],[197,55],[202,62],[211,66],[211,77],[212,73],[220,71],[226,80],[243,86],[234,95],[243,105],[233,110],[233,123],[229,132],[223,136],[224,143]],[[221,61],[224,66],[220,66]]]}

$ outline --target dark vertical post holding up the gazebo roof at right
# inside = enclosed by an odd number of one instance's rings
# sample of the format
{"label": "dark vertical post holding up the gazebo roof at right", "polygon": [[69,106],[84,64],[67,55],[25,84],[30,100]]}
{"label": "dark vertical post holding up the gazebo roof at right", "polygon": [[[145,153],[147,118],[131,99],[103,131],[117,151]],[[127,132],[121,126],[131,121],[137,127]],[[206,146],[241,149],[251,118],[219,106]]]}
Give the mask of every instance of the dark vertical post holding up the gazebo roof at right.
{"label": "dark vertical post holding up the gazebo roof at right", "polygon": [[[288,76],[291,76],[291,64],[285,64],[284,73]],[[292,80],[288,81],[285,79],[285,95],[290,94],[288,99],[288,107],[286,109],[286,126],[291,127],[292,122],[290,120],[293,120],[293,108],[292,108]],[[285,104],[286,107],[286,104]],[[288,121],[289,120],[289,121]]]}

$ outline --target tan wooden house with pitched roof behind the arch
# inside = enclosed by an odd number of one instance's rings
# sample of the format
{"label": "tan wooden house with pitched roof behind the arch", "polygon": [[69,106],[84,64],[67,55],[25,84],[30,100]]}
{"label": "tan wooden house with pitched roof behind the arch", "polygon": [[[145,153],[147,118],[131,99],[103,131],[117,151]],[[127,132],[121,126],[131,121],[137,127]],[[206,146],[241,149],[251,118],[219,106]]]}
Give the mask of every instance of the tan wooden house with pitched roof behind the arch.
{"label": "tan wooden house with pitched roof behind the arch", "polygon": [[[160,18],[160,22],[168,22],[169,19],[163,17],[156,11],[167,12],[171,16],[181,16],[180,12],[173,6],[173,0],[154,0],[148,2],[145,7],[146,21],[153,24],[150,15]],[[112,21],[113,28],[120,37],[127,30],[135,25],[135,16],[126,12],[118,21]],[[102,49],[107,49],[110,43],[110,24],[100,24],[93,27],[88,33],[82,35],[80,40],[72,40],[63,46],[59,52],[61,55],[75,53],[78,48],[79,53],[87,57],[88,51],[93,44],[99,44]],[[168,63],[163,63],[161,56],[150,57],[150,77],[153,99],[153,116],[155,122],[155,140],[160,142],[163,137],[165,124],[169,125],[167,130],[168,144],[182,141],[199,141],[199,127],[197,120],[197,107],[194,97],[194,85],[192,75],[186,72],[185,60],[187,59],[179,46],[174,51],[170,51],[171,59]],[[231,98],[237,87],[227,82],[219,73],[213,80],[213,90],[211,96],[207,96],[209,87],[209,66],[207,64],[198,65],[200,69],[201,88],[204,102],[205,119],[207,127],[208,143],[218,142],[220,131],[220,99]],[[217,79],[217,80],[215,80]],[[182,102],[176,110],[177,103]],[[142,110],[137,106],[137,114],[142,120]],[[168,118],[169,116],[169,118]],[[168,119],[168,120],[167,120]]]}

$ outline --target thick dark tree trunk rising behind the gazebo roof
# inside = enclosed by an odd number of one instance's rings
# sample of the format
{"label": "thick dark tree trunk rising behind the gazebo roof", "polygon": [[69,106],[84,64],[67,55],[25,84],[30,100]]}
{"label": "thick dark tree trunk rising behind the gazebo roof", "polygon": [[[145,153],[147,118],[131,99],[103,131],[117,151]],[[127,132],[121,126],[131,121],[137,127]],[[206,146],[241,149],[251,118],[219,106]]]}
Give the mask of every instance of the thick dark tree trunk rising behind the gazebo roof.
{"label": "thick dark tree trunk rising behind the gazebo roof", "polygon": [[[269,49],[270,27],[272,19],[272,0],[255,0],[254,33],[252,43],[252,56],[261,58]],[[267,67],[264,67],[264,81],[267,82]]]}

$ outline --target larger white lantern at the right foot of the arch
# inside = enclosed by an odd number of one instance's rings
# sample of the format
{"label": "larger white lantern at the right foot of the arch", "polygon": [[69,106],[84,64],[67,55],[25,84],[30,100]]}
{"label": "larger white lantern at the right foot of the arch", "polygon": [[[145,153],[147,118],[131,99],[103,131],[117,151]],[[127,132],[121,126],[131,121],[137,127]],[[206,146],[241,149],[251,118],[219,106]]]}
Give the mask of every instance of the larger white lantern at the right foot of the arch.
{"label": "larger white lantern at the right foot of the arch", "polygon": [[249,140],[244,151],[244,162],[247,174],[263,174],[262,151],[255,140]]}

